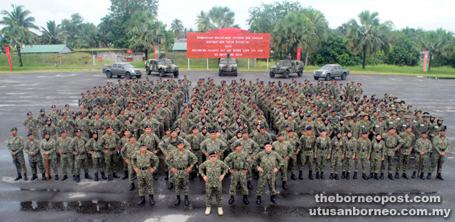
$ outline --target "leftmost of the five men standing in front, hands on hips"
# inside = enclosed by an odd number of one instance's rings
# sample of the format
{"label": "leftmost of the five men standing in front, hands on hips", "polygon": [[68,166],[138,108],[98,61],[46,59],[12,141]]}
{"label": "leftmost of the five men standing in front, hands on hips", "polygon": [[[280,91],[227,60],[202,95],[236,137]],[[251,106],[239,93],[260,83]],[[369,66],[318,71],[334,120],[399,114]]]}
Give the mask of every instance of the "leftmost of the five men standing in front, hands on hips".
{"label": "leftmost of the five men standing in front, hands on hips", "polygon": [[139,151],[131,155],[131,164],[137,175],[137,186],[139,186],[139,197],[141,197],[137,204],[142,205],[145,203],[145,190],[148,190],[150,204],[154,205],[152,173],[158,168],[158,157],[148,151],[145,144],[140,144]]}

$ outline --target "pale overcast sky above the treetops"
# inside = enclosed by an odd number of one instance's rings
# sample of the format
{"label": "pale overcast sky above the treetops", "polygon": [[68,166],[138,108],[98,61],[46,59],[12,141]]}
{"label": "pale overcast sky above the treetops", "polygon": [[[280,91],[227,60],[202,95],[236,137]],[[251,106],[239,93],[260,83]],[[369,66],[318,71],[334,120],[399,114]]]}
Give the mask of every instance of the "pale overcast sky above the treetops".
{"label": "pale overcast sky above the treetops", "polygon": [[[85,21],[99,24],[100,19],[108,14],[109,0],[3,0],[0,10],[10,12],[12,3],[24,5],[26,10],[32,12],[36,25],[45,27],[46,21],[70,19],[71,14],[79,12]],[[204,10],[207,12],[212,6],[227,6],[235,12],[235,22],[241,28],[247,29],[246,19],[248,9],[261,5],[261,2],[272,3],[272,0],[230,0],[222,3],[208,3],[215,1],[206,0],[168,0],[159,1],[158,19],[168,24],[174,19],[180,19],[185,27],[193,27],[196,14]],[[396,28],[422,27],[424,30],[436,30],[443,27],[445,30],[455,32],[455,14],[450,8],[455,8],[453,0],[307,0],[299,1],[303,7],[312,6],[325,14],[329,26],[338,27],[349,19],[355,18],[362,10],[379,12],[381,21],[391,20]]]}

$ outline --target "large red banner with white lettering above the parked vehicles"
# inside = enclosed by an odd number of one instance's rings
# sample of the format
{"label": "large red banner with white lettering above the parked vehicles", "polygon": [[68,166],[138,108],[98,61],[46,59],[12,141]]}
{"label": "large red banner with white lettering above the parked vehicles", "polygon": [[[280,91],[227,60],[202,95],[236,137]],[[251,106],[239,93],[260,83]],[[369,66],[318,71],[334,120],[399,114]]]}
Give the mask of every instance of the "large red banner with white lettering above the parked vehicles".
{"label": "large red banner with white lettering above the parked vehicles", "polygon": [[188,58],[270,58],[270,33],[187,33]]}

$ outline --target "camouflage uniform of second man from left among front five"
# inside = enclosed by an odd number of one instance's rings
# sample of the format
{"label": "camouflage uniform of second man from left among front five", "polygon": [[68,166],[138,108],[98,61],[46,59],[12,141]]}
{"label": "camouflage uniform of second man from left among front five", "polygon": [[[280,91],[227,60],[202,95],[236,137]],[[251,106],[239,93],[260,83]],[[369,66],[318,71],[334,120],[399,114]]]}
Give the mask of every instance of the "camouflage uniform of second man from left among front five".
{"label": "camouflage uniform of second man from left among front five", "polygon": [[175,194],[180,195],[180,186],[183,186],[183,192],[185,195],[190,193],[188,189],[188,175],[186,169],[189,167],[193,168],[197,163],[197,157],[191,151],[183,149],[180,152],[178,149],[169,153],[166,157],[166,162],[169,164],[169,168],[175,168],[177,173],[174,174]]}

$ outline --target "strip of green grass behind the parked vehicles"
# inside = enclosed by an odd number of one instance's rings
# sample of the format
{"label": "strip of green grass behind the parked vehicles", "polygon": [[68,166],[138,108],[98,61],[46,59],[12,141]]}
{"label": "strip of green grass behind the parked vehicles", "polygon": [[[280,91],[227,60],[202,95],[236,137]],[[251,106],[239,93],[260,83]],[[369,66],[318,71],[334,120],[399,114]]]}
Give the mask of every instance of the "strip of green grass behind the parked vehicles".
{"label": "strip of green grass behind the parked vehicles", "polygon": [[[108,49],[108,48],[106,48]],[[85,49],[87,50],[87,49]],[[90,49],[91,50],[91,49]],[[105,49],[103,49],[105,50]],[[180,70],[188,70],[188,58],[185,52],[165,52],[167,58],[173,58],[174,63],[179,65]],[[90,61],[91,54],[85,52],[75,52],[72,54],[61,54],[61,65],[59,54],[22,54],[23,67],[19,67],[19,58],[17,54],[11,55],[12,67],[14,73],[20,72],[57,72],[57,71],[101,71],[104,63],[112,65],[113,61],[99,62]],[[154,54],[149,54],[149,58],[154,58]],[[90,63],[89,63],[90,61]],[[57,62],[57,67],[55,67]],[[143,61],[132,61],[135,67],[144,68]],[[275,61],[269,61],[269,67],[274,65]],[[239,59],[239,71],[248,71],[248,59]],[[307,66],[305,72],[312,72],[319,67]],[[379,75],[399,75],[399,76],[429,76],[438,78],[455,78],[455,69],[450,67],[433,67],[431,71],[423,73],[423,65],[417,67],[398,67],[396,65],[380,64],[376,67],[368,65],[366,69],[362,69],[361,65],[354,67],[344,67],[351,70],[352,74],[379,74]],[[207,70],[207,58],[190,58],[190,69],[192,71]],[[218,59],[209,58],[209,70],[218,70]],[[249,71],[267,71],[267,61],[258,59],[256,68],[254,68],[253,60],[250,59]],[[0,54],[0,73],[11,73],[8,65],[6,54]]]}

